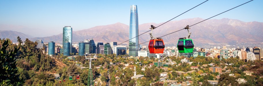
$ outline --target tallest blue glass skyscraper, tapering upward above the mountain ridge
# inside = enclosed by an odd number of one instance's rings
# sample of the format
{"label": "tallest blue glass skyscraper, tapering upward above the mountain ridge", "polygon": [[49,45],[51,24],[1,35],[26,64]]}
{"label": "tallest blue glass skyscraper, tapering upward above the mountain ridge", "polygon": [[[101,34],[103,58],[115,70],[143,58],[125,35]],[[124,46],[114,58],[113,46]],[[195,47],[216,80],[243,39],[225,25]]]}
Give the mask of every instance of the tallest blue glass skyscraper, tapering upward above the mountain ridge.
{"label": "tallest blue glass skyscraper, tapering upward above the mountain ridge", "polygon": [[[137,5],[131,5],[130,29],[129,29],[129,39],[131,39],[131,40],[129,40],[129,56],[133,56],[133,57],[138,56],[139,37],[136,37],[138,35],[139,35],[139,30],[138,30]],[[134,37],[136,37],[136,38],[134,38]]]}

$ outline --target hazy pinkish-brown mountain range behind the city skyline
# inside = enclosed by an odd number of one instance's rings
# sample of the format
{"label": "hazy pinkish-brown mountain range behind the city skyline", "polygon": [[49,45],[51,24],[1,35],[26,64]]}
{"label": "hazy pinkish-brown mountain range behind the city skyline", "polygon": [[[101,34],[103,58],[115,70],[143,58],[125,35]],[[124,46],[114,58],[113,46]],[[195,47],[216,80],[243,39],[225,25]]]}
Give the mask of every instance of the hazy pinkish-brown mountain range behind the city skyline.
{"label": "hazy pinkish-brown mountain range behind the city skyline", "polygon": [[[157,27],[153,30],[154,37],[160,37],[174,31],[183,29],[187,25],[191,26],[189,31],[195,43],[236,43],[236,42],[263,42],[263,23],[261,22],[243,22],[236,19],[209,19],[202,23],[198,23],[204,19],[202,18],[189,18],[178,21],[170,21],[163,23],[144,23],[139,25],[139,35],[149,31],[151,25]],[[198,23],[198,24],[196,24]],[[196,24],[196,25],[194,25]],[[62,28],[61,28],[62,29]],[[73,27],[74,29],[74,27]],[[150,40],[151,31],[139,36],[139,42],[143,43]],[[31,38],[31,36],[19,32],[5,31],[3,34],[0,31],[0,38],[15,39],[17,36],[20,38],[30,38],[30,40],[42,39],[43,42],[49,41],[62,41],[62,33],[48,37]],[[176,44],[179,38],[186,37],[188,32],[186,29],[166,35],[162,37],[165,43]],[[96,26],[89,29],[72,32],[73,42],[82,42],[84,39],[91,39],[95,42],[124,42],[129,39],[129,25],[123,23],[115,23],[111,25]],[[128,41],[127,41],[128,42]],[[147,44],[147,43],[145,43]]]}

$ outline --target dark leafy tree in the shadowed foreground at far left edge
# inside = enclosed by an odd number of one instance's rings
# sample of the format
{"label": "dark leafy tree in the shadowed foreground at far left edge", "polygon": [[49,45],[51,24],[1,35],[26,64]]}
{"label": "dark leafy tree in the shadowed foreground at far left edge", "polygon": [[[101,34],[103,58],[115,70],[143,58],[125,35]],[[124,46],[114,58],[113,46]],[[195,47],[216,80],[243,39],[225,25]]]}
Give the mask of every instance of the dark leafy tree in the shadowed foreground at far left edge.
{"label": "dark leafy tree in the shadowed foreground at far left edge", "polygon": [[24,80],[19,78],[18,68],[16,67],[16,53],[19,48],[7,51],[8,40],[5,40],[0,48],[0,84],[3,85],[22,85]]}

